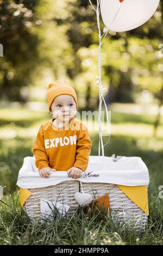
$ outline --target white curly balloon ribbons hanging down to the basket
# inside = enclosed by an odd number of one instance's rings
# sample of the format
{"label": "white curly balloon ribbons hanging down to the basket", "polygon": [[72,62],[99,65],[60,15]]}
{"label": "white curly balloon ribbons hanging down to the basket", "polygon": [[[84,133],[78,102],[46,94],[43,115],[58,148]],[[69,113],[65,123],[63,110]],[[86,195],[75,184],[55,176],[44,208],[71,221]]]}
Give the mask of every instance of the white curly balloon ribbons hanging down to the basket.
{"label": "white curly balloon ribbons hanging down to the basket", "polygon": [[[93,7],[93,4],[91,3],[91,0],[89,0],[93,10],[96,11],[96,16],[97,16],[97,27],[98,27],[98,38],[99,38],[99,46],[98,46],[98,80],[96,81],[96,84],[99,84],[97,87],[99,87],[99,108],[98,108],[98,126],[99,126],[99,143],[98,143],[98,155],[101,155],[101,149],[102,149],[102,156],[103,156],[103,161],[104,161],[104,147],[106,144],[108,144],[109,139],[110,139],[110,120],[108,116],[108,109],[106,106],[106,102],[104,99],[103,92],[107,90],[107,88],[103,88],[102,85],[102,78],[101,78],[101,46],[103,44],[103,40],[105,36],[108,34],[108,29],[105,27],[103,30],[103,35],[101,35],[101,28],[100,28],[100,21],[99,21],[99,14],[100,14],[100,4],[101,0],[97,0],[97,9]],[[103,40],[102,40],[103,38]],[[103,131],[102,131],[102,125],[101,125],[101,112],[102,112],[102,103],[104,102],[104,107],[105,107],[105,112],[106,112],[106,125],[109,127],[109,138],[108,141],[103,144]]]}

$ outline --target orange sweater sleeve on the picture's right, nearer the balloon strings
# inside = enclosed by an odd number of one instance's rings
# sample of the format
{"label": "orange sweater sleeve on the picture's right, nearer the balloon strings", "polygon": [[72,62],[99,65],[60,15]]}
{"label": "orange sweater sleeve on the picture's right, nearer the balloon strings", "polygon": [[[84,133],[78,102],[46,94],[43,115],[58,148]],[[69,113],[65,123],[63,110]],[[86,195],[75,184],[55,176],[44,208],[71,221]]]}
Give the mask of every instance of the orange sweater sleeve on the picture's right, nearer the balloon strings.
{"label": "orange sweater sleeve on the picture's right, nearer the balloon strings", "polygon": [[77,133],[76,160],[73,166],[85,171],[89,163],[92,142],[86,126],[83,125],[82,127],[83,129],[80,129]]}

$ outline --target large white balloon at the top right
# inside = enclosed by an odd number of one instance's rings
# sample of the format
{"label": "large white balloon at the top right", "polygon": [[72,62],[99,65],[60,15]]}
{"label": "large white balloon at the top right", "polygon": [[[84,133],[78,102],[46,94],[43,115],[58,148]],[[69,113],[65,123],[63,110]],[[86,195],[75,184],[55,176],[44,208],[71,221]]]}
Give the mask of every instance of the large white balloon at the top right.
{"label": "large white balloon at the top right", "polygon": [[160,0],[101,0],[101,15],[106,28],[125,32],[148,21]]}

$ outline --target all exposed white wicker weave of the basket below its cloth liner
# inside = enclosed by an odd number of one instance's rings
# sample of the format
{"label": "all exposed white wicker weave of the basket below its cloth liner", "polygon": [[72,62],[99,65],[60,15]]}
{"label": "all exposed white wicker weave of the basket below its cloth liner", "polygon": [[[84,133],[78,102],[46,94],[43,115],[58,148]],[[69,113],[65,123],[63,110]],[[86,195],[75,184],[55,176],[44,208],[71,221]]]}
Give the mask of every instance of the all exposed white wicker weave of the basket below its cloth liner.
{"label": "all exposed white wicker weave of the basket below its cloth liner", "polygon": [[[78,208],[74,193],[80,192],[79,181],[65,181],[55,186],[29,189],[32,195],[26,200],[23,208],[31,218],[41,217],[40,199],[57,201],[70,206],[66,216],[72,216]],[[111,216],[117,223],[130,223],[134,225],[136,233],[145,231],[147,214],[143,212],[124,194],[117,185],[106,183],[83,183],[83,191],[90,193],[93,199],[109,194]]]}

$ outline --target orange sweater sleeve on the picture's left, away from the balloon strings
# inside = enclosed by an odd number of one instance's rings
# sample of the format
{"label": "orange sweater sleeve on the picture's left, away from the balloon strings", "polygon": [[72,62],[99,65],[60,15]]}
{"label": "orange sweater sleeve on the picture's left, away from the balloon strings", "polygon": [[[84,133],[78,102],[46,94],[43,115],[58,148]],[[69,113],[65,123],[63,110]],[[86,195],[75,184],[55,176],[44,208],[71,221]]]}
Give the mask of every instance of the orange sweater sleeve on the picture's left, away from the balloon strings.
{"label": "orange sweater sleeve on the picture's left, away from the balloon strings", "polygon": [[36,158],[36,167],[39,170],[45,167],[49,167],[49,160],[45,151],[42,125],[40,126],[39,132],[37,133],[33,144],[33,154]]}

